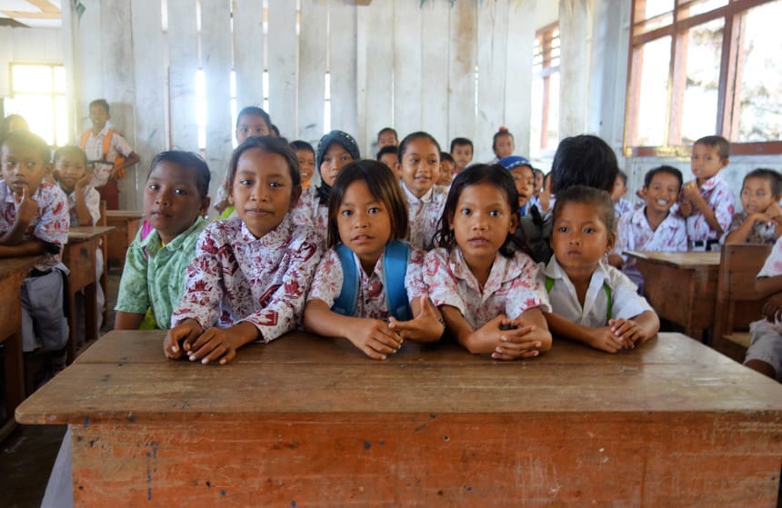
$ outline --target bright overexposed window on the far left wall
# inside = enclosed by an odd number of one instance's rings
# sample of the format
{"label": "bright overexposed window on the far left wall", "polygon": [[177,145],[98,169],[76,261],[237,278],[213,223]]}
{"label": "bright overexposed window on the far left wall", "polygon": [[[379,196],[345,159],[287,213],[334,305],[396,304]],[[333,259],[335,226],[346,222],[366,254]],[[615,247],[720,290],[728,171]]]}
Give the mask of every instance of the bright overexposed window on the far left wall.
{"label": "bright overexposed window on the far left wall", "polygon": [[65,67],[59,64],[11,64],[11,98],[5,115],[25,117],[30,130],[46,143],[68,142]]}

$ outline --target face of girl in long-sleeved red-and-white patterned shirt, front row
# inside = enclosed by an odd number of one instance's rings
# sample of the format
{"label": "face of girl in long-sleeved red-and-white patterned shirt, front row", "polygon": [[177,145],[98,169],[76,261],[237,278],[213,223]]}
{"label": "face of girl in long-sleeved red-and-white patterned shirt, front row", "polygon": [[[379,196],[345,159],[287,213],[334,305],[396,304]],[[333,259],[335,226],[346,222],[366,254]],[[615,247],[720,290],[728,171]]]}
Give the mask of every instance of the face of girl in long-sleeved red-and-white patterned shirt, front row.
{"label": "face of girl in long-sleeved red-and-white patterned shirt, front row", "polygon": [[283,222],[296,204],[301,186],[294,186],[285,157],[260,148],[239,155],[231,196],[236,214],[260,238]]}

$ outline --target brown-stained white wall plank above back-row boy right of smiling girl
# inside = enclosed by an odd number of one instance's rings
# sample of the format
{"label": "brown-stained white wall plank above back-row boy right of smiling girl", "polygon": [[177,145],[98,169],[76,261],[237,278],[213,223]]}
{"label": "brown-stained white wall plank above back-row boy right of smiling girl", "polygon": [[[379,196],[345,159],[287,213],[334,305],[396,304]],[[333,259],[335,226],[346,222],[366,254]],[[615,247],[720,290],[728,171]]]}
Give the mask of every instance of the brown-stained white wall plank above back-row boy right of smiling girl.
{"label": "brown-stained white wall plank above back-row boy right of smiling girl", "polygon": [[476,2],[456,2],[449,11],[448,148],[455,137],[476,141]]}

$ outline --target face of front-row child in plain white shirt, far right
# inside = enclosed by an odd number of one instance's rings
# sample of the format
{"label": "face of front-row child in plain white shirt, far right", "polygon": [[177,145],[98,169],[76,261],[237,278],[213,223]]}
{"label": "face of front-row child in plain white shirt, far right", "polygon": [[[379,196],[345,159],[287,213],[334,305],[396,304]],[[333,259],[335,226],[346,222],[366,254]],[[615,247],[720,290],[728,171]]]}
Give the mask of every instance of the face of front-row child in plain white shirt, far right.
{"label": "face of front-row child in plain white shirt, far right", "polygon": [[551,247],[567,274],[583,270],[591,273],[603,254],[613,248],[614,238],[594,206],[566,203],[554,219]]}

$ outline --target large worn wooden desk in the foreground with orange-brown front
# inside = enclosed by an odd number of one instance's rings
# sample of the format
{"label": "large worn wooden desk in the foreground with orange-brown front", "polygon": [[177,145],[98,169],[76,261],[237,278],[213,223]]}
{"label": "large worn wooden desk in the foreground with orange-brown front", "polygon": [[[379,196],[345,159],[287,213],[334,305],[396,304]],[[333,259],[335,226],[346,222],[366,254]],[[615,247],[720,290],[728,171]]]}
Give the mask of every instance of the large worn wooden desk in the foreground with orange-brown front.
{"label": "large worn wooden desk in the foreground with orange-brown front", "polygon": [[112,332],[22,403],[68,423],[76,506],[773,506],[782,385],[680,334],[386,362],[304,334],[225,366]]}

